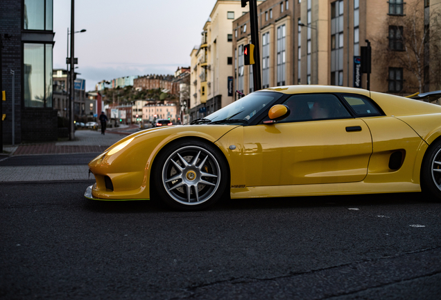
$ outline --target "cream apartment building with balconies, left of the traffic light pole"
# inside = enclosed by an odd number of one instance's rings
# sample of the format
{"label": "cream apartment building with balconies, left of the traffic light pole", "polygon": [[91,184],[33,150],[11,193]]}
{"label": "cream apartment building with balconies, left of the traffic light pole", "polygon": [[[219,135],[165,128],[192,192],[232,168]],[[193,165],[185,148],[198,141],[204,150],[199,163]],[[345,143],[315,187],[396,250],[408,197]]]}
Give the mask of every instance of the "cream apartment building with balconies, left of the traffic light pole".
{"label": "cream apartment building with balconies, left of the traffic light pole", "polygon": [[202,28],[200,45],[190,53],[191,119],[232,103],[232,21],[248,10],[248,6],[241,7],[240,0],[218,0],[214,4]]}

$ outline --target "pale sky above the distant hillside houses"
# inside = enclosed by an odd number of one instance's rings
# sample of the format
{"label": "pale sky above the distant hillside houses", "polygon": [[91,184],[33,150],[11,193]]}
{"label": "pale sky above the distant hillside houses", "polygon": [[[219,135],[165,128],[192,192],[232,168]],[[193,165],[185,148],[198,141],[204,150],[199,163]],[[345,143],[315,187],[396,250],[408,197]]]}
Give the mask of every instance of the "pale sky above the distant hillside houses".
{"label": "pale sky above the distant hillside houses", "polygon": [[[216,0],[76,0],[75,57],[86,90],[103,79],[173,74],[190,53]],[[53,68],[66,69],[71,0],[53,1]],[[69,40],[70,43],[70,40]],[[70,53],[69,53],[70,54]]]}

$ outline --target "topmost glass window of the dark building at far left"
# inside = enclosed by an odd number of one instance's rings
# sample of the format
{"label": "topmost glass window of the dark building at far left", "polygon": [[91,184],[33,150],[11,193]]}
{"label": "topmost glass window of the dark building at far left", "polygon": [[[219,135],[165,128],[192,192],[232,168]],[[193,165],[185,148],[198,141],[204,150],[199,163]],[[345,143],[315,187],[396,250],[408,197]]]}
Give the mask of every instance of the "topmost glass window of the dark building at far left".
{"label": "topmost glass window of the dark building at far left", "polygon": [[24,0],[23,28],[53,30],[53,0]]}

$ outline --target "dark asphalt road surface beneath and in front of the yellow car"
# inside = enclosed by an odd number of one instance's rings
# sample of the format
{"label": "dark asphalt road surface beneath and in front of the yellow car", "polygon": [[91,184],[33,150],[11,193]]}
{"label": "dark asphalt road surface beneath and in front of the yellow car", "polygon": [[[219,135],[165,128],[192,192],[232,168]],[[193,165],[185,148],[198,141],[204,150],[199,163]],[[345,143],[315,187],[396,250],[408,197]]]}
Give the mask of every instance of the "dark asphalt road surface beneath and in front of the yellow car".
{"label": "dark asphalt road surface beneath and in front of the yellow car", "polygon": [[0,184],[1,299],[440,299],[441,204],[222,201],[197,213]]}

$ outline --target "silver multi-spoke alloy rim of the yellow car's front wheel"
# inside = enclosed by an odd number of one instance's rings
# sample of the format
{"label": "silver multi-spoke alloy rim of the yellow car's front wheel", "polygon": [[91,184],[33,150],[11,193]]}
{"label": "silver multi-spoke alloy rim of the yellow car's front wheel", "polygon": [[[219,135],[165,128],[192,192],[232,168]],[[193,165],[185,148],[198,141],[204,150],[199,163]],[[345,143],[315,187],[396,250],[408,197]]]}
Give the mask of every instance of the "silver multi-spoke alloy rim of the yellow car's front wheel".
{"label": "silver multi-spoke alloy rim of the yellow car's front wheel", "polygon": [[168,156],[162,168],[162,183],[175,201],[193,206],[209,200],[220,183],[216,158],[197,146],[182,147]]}

